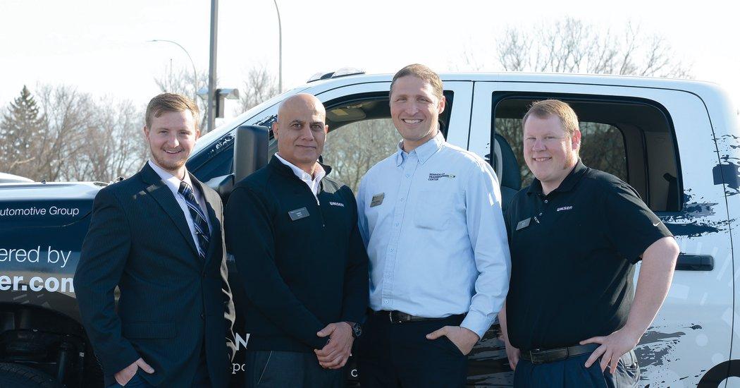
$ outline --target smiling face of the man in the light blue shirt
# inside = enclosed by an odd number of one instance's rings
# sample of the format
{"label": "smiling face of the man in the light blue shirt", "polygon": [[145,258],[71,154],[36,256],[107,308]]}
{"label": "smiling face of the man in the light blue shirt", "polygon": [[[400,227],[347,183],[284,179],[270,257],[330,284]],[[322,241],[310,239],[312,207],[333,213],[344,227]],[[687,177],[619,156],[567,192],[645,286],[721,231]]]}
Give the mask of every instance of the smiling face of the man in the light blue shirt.
{"label": "smiling face of the man in the light blue shirt", "polygon": [[438,98],[429,82],[403,76],[391,89],[391,117],[403,137],[407,153],[437,135],[438,119],[445,110],[445,97]]}

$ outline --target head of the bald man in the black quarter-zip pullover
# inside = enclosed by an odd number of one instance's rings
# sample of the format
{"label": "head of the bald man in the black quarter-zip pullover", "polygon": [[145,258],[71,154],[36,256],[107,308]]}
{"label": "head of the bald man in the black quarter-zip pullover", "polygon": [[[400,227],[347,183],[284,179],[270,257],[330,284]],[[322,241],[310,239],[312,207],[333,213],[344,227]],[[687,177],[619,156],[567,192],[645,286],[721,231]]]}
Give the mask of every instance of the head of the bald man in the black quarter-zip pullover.
{"label": "head of the bald man in the black quarter-zip pullover", "polygon": [[277,110],[272,133],[277,153],[286,161],[313,174],[326,140],[326,109],[318,98],[300,93],[286,98]]}

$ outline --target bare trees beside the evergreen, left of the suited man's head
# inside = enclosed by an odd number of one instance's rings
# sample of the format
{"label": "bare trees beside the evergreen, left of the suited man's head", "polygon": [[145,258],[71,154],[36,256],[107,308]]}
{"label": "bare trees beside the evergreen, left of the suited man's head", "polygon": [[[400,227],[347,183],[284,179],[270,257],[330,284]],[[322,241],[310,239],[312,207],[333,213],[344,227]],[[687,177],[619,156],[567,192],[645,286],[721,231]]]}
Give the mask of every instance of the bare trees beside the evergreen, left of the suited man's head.
{"label": "bare trees beside the evergreen, left of the suited man's head", "polygon": [[[67,85],[39,85],[36,90],[38,112],[31,116],[39,119],[4,117],[3,127],[10,129],[35,123],[33,137],[13,144],[0,138],[0,147],[23,150],[22,163],[13,157],[17,168],[8,172],[36,181],[111,181],[135,172],[146,160],[143,109],[111,97],[94,101]],[[10,164],[2,159],[5,170]]]}

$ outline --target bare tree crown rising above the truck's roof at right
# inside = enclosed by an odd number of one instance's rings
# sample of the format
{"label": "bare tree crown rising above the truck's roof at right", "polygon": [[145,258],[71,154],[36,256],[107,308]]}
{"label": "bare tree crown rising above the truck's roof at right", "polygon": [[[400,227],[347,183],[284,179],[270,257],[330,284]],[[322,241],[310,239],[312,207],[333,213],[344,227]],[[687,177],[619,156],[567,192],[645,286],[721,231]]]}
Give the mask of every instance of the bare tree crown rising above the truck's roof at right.
{"label": "bare tree crown rising above the truck's roof at right", "polygon": [[465,50],[468,70],[596,73],[691,78],[691,66],[676,58],[659,35],[628,24],[622,31],[565,18],[538,27],[507,27],[495,44],[494,60]]}

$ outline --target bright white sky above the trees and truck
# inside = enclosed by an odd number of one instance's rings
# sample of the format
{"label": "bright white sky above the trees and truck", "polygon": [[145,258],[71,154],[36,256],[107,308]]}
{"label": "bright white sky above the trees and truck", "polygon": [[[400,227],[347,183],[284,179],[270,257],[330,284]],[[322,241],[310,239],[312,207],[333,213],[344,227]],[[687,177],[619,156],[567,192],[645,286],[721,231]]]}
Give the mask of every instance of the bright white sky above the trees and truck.
{"label": "bright white sky above the trees and truck", "polygon": [[[505,27],[534,29],[572,17],[613,30],[639,25],[659,34],[693,76],[740,101],[736,12],[719,1],[277,0],[283,34],[283,90],[317,72],[356,67],[394,73],[423,63],[443,73],[464,54],[491,64]],[[277,75],[272,0],[220,0],[219,87],[242,87],[250,68]],[[209,61],[209,0],[0,0],[0,106],[24,84],[67,84],[93,96],[146,104],[170,66],[198,71]]]}

